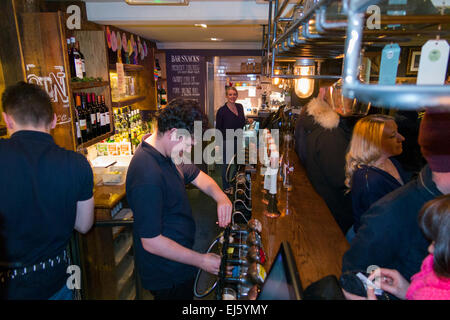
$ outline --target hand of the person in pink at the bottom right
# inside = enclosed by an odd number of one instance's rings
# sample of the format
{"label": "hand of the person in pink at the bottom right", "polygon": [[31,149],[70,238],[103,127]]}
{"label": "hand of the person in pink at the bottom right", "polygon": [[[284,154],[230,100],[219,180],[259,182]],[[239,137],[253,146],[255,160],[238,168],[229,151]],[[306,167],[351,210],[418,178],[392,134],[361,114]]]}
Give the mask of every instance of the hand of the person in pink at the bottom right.
{"label": "hand of the person in pink at the bottom right", "polygon": [[[375,279],[377,277],[379,279]],[[369,276],[369,280],[376,280],[377,285],[382,290],[389,292],[397,298],[402,300],[406,299],[409,282],[397,270],[379,268]]]}

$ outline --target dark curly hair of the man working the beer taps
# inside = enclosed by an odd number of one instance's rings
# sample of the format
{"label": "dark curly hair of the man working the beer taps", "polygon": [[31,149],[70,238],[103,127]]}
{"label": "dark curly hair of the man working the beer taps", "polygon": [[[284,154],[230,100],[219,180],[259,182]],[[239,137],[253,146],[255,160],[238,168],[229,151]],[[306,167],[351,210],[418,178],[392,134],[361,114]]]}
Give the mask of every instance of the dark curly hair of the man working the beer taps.
{"label": "dark curly hair of the man working the beer taps", "polygon": [[194,122],[202,122],[202,130],[207,127],[207,119],[196,100],[176,98],[159,111],[157,115],[158,132],[164,132],[176,128],[186,129],[194,133]]}

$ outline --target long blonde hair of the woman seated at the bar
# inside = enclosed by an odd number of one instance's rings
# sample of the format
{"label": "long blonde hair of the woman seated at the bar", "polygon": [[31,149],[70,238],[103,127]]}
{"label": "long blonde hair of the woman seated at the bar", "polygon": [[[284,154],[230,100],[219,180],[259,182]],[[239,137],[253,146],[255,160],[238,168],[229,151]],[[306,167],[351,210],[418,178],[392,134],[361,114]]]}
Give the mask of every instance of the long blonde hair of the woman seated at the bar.
{"label": "long blonde hair of the woman seated at the bar", "polygon": [[382,114],[364,117],[353,128],[349,151],[345,156],[345,185],[351,189],[353,173],[361,165],[373,165],[381,156],[381,139],[386,122],[394,118]]}

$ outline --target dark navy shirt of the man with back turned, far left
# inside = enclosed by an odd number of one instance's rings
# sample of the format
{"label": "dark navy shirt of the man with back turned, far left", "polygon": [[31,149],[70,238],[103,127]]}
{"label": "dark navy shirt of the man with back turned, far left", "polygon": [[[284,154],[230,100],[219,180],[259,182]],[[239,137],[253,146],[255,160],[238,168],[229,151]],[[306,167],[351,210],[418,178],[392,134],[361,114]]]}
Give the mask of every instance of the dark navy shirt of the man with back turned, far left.
{"label": "dark navy shirt of the man with back turned, far left", "polygon": [[[0,139],[0,179],[0,261],[30,266],[61,254],[77,202],[93,195],[86,158],[57,146],[47,133],[18,131]],[[30,273],[26,288],[13,280],[8,298],[47,299],[65,284],[65,271]]]}

